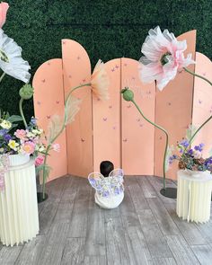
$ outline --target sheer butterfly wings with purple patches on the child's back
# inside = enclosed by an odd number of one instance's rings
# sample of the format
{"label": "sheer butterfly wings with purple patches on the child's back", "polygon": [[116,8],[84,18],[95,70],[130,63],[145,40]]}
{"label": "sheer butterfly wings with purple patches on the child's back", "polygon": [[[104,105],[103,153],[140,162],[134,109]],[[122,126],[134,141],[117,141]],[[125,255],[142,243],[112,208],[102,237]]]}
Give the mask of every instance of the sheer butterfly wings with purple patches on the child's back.
{"label": "sheer butterfly wings with purple patches on the child's back", "polygon": [[124,191],[123,176],[122,169],[114,169],[107,178],[100,172],[92,172],[88,175],[88,181],[100,196],[110,197]]}

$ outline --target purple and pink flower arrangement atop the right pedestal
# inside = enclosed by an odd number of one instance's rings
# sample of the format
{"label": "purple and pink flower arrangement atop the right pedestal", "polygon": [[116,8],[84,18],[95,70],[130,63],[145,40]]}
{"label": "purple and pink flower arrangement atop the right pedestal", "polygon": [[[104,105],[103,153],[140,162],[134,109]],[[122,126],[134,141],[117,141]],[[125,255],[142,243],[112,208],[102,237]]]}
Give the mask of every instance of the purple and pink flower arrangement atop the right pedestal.
{"label": "purple and pink flower arrangement atop the right pedestal", "polygon": [[176,151],[178,155],[169,156],[169,164],[171,165],[175,160],[178,160],[178,166],[181,170],[190,170],[195,172],[209,171],[212,173],[212,156],[203,158],[202,151],[204,144],[190,148],[188,139],[182,139],[177,143]]}

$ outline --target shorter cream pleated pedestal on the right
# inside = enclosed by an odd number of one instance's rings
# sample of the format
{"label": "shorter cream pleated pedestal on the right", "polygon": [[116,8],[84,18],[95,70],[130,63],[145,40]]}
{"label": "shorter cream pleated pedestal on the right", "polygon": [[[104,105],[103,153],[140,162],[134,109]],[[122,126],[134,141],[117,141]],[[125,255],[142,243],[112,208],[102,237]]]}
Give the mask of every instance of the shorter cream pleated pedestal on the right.
{"label": "shorter cream pleated pedestal on the right", "polygon": [[180,170],[178,172],[177,215],[196,223],[210,218],[212,174]]}

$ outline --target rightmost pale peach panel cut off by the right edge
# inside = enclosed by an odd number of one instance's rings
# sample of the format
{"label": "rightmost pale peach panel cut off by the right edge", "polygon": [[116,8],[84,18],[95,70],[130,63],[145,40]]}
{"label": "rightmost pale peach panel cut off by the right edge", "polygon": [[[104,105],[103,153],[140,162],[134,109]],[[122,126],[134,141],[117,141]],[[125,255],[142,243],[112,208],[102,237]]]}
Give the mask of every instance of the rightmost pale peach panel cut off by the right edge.
{"label": "rightmost pale peach panel cut off by the right edge", "polygon": [[[205,55],[196,53],[195,73],[205,76],[212,81],[212,62]],[[194,99],[193,99],[193,115],[192,123],[195,127],[199,126],[212,115],[212,87],[206,81],[195,76],[194,79]],[[195,138],[194,145],[204,143],[203,155],[208,157],[209,151],[212,149],[212,120],[199,131]]]}

